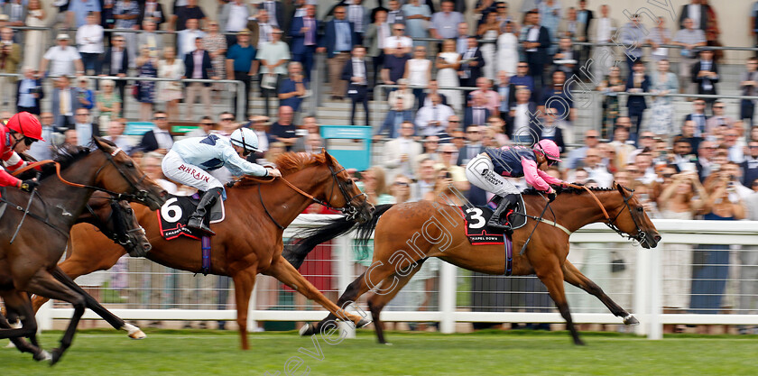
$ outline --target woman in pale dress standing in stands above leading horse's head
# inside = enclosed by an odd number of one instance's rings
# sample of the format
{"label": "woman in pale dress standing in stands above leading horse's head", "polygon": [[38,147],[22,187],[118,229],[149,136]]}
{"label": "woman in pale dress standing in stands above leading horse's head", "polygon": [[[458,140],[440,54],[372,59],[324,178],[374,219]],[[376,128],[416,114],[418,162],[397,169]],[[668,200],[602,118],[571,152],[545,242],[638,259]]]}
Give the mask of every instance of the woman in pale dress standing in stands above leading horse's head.
{"label": "woman in pale dress standing in stands above leading horse's head", "polygon": [[666,136],[679,132],[674,128],[674,105],[671,104],[669,93],[679,91],[677,75],[669,71],[669,60],[658,61],[658,69],[651,77],[650,90],[656,96],[652,100],[652,118],[650,130],[656,135]]}

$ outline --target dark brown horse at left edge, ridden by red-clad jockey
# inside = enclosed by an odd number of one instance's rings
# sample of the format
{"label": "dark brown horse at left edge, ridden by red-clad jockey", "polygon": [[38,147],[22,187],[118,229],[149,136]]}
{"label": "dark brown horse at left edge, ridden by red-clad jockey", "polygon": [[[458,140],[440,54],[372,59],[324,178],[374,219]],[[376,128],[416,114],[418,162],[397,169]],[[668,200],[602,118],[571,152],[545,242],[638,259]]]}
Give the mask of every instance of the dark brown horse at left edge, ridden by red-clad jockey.
{"label": "dark brown horse at left edge, ridden by red-clad jockey", "polygon": [[[139,170],[124,151],[97,137],[93,143],[97,148],[92,151],[72,147],[68,154],[56,158],[54,166],[45,165],[40,185],[32,194],[8,189],[4,195],[13,205],[26,203],[27,208],[23,213],[6,210],[0,222],[0,296],[5,307],[18,313],[22,322],[21,328],[11,328],[5,319],[0,320],[0,326],[4,327],[0,329],[0,338],[36,333],[37,324],[27,294],[67,301],[74,307],[74,316],[60,340],[60,347],[51,353],[52,364],[60,361],[69,348],[87,302],[83,290],[72,280],[55,274],[69,230],[93,191],[130,195],[124,197],[156,209],[164,202],[163,189]],[[30,346],[21,350],[33,353],[37,360],[46,358],[39,346]]]}

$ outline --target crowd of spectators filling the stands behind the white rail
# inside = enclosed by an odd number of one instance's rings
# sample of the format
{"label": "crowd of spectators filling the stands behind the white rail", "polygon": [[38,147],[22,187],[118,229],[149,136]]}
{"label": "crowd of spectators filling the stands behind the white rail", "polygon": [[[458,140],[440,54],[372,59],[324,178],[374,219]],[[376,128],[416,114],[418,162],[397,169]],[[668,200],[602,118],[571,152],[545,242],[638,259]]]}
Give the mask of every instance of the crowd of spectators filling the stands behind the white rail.
{"label": "crowd of spectators filling the stands behind the white rail", "polygon": [[[707,0],[685,5],[673,28],[663,17],[645,26],[650,20],[642,15],[613,19],[609,5],[595,4],[594,12],[585,0],[576,5],[526,0],[518,10],[504,1],[479,0],[474,19],[464,16],[466,2],[461,0],[389,0],[375,7],[343,0],[326,5],[325,19],[316,16],[317,2],[304,0],[219,1],[217,19],[208,17],[196,0],[175,1],[171,10],[152,0],[106,1],[103,8],[97,0],[69,0],[56,3],[68,5],[60,5],[62,32],[48,50],[43,50],[42,32],[7,27],[42,25],[46,15],[39,0],[6,3],[8,17],[0,18],[5,26],[0,30],[0,70],[23,77],[2,78],[3,105],[41,115],[46,140],[46,134],[57,131],[63,133],[60,142],[103,134],[138,156],[160,155],[171,148],[170,120],[198,120],[193,107],[199,96],[201,126],[192,135],[228,134],[236,126],[249,126],[261,140],[263,153],[251,157],[259,161],[273,161],[282,151],[318,152],[323,142],[316,117],[301,113],[311,94],[311,72],[319,69],[328,77],[331,101],[350,99],[351,124],[362,106],[365,124],[376,130],[374,141],[384,142],[384,158],[356,173],[374,205],[440,195],[455,199],[452,188],[471,203],[485,205],[491,195],[468,184],[463,173],[467,161],[487,147],[548,138],[557,142],[565,160],[550,173],[597,187],[615,181],[636,189],[654,218],[737,220],[758,213],[753,100],[743,99],[733,109],[740,115],[731,118],[725,115],[727,102],[694,98],[689,115],[678,118],[667,96],[715,95],[724,85],[720,51],[708,49],[719,45],[720,29]],[[75,37],[66,32],[69,26],[78,28]],[[650,32],[642,32],[643,27]],[[111,28],[140,32],[105,32]],[[621,28],[627,32],[617,40]],[[585,41],[632,47],[623,53],[617,46],[575,44]],[[319,53],[326,56],[324,67],[317,66]],[[592,74],[579,74],[587,60],[604,55],[620,64],[595,64]],[[757,72],[758,59],[748,59],[736,84],[744,96],[756,95]],[[176,81],[96,84],[77,78],[72,84],[67,78],[85,73]],[[50,109],[41,105],[46,78],[55,79]],[[228,98],[231,112],[215,122],[208,117],[210,105],[228,87],[182,78],[242,81],[248,118],[237,119],[236,98]],[[600,124],[577,140],[575,98],[565,88],[570,80],[596,89],[602,101]],[[250,114],[247,96],[253,82],[265,99],[265,116]],[[383,84],[391,87],[373,97],[373,87]],[[134,145],[122,136],[126,96],[140,103],[141,120],[155,124]],[[383,119],[371,123],[370,99],[389,107]],[[186,111],[180,112],[180,101]],[[269,122],[273,114],[276,121]],[[42,142],[34,147],[35,157],[44,159],[49,152]],[[522,180],[514,183],[525,187]],[[698,297],[671,305],[702,312],[720,308],[717,297],[724,285],[710,280],[726,280],[722,266],[728,263],[728,247],[722,250],[726,253],[705,247],[707,251],[679,247],[668,253],[677,260],[667,261],[664,273],[682,276],[673,279],[679,283],[691,278],[691,286],[680,288]],[[692,254],[702,268],[678,268],[683,253]]]}

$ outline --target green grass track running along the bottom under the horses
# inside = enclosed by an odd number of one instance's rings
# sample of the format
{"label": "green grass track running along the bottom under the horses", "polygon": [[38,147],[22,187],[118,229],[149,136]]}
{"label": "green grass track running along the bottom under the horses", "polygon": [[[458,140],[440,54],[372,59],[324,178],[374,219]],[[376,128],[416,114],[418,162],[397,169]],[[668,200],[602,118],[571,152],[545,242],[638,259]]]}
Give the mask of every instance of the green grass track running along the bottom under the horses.
{"label": "green grass track running along the bottom under the horses", "polygon": [[[389,332],[392,346],[361,330],[330,345],[293,332],[250,335],[238,349],[236,332],[146,330],[134,341],[112,330],[81,331],[54,367],[29,354],[0,349],[0,375],[756,375],[758,335],[671,335],[648,341],[632,335],[585,333],[587,346],[566,332],[484,331],[466,335]],[[42,335],[55,347],[60,332]],[[328,339],[328,338],[327,338]],[[6,340],[0,341],[5,345]],[[310,355],[309,355],[310,353]],[[318,358],[318,359],[317,359]],[[301,362],[300,368],[295,365]]]}

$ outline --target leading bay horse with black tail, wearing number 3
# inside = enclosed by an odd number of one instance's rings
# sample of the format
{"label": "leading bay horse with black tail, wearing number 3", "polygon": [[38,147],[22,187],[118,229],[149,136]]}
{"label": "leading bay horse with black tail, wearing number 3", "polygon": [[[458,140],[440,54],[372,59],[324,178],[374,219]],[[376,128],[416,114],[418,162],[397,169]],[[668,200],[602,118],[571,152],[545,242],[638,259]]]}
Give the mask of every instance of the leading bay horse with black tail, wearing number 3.
{"label": "leading bay horse with black tail, wearing number 3", "polygon": [[[602,222],[619,234],[627,234],[642,244],[653,248],[661,235],[645,214],[642,204],[633,196],[633,191],[614,183],[613,188],[558,188],[557,199],[550,204],[549,215],[544,219],[556,225],[539,223],[534,214],[545,213],[546,199],[539,192],[529,189],[523,192],[526,225],[513,232],[513,249],[521,250],[533,232],[532,239],[523,254],[513,254],[513,275],[537,274],[547,287],[550,298],[566,320],[574,344],[584,344],[571,320],[563,281],[584,289],[599,298],[615,316],[624,317],[624,324],[639,322],[608,298],[595,282],[589,280],[566,260],[568,236],[584,225]],[[559,228],[561,225],[566,229]],[[464,229],[464,219],[457,206],[439,205],[431,201],[419,201],[398,205],[377,206],[374,218],[358,225],[358,238],[367,241],[374,231],[374,260],[367,271],[354,280],[337,301],[340,307],[348,301],[356,301],[366,291],[377,289],[368,298],[377,339],[385,344],[384,325],[380,314],[384,306],[394,298],[413,274],[429,257],[438,257],[460,268],[486,274],[505,274],[504,246],[472,246]],[[285,253],[296,267],[310,252],[314,243],[324,242],[351,230],[344,219],[311,233],[315,242],[306,238],[299,246]],[[409,245],[411,244],[411,245]],[[288,250],[290,247],[288,247]],[[319,331],[331,316],[316,326],[304,326],[302,335]]]}

